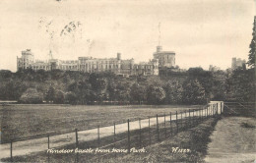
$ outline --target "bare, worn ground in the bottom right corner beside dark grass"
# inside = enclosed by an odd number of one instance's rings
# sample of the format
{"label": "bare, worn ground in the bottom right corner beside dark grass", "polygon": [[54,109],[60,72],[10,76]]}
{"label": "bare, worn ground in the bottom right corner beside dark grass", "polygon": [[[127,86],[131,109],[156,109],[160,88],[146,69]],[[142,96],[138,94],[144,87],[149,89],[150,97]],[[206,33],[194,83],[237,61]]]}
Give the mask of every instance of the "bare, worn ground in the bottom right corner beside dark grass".
{"label": "bare, worn ground in the bottom right corner beside dark grass", "polygon": [[240,163],[256,160],[256,120],[228,117],[219,121],[208,145],[206,162]]}

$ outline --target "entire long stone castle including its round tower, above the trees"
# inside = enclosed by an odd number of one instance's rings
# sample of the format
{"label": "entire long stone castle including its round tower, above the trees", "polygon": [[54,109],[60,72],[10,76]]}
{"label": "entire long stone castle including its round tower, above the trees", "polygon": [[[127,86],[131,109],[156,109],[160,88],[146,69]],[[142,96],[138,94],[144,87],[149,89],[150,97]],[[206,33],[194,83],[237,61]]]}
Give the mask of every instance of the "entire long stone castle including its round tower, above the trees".
{"label": "entire long stone castle including its round tower, above the trees", "polygon": [[175,52],[162,51],[161,46],[157,46],[157,51],[153,54],[154,59],[139,64],[135,64],[134,59],[122,60],[121,53],[117,53],[116,58],[79,57],[78,60],[65,61],[53,59],[51,51],[49,55],[49,60],[38,61],[34,60],[31,49],[22,51],[22,57],[17,57],[17,69],[81,71],[85,73],[112,72],[116,75],[127,76],[158,76],[160,68],[175,66]]}

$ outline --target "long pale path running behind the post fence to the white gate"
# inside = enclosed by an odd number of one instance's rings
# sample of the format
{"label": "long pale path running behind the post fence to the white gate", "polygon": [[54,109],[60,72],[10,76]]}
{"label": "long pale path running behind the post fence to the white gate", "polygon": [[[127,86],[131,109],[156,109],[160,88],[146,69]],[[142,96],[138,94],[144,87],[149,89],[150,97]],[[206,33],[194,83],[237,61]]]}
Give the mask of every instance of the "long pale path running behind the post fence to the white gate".
{"label": "long pale path running behind the post fence to the white gate", "polygon": [[[212,101],[211,104],[218,103],[219,106],[221,106],[220,101]],[[224,105],[222,105],[224,106]],[[221,113],[221,107],[219,107],[218,111],[212,110],[210,114],[213,113]],[[204,109],[201,111],[195,111],[195,116],[199,115],[206,115],[207,110]],[[186,114],[186,117],[183,114],[183,118],[188,118],[188,114]],[[165,117],[168,121],[170,119],[169,116]],[[177,115],[177,119],[181,119],[181,115]],[[164,122],[164,117],[159,117],[159,123]],[[176,120],[176,115],[171,116],[171,120]],[[157,124],[157,118],[151,118],[151,126]],[[149,126],[149,120],[141,120],[141,128],[148,128]],[[125,124],[118,124],[116,127],[116,134],[124,133],[127,131],[127,123]],[[134,121],[130,123],[130,130],[138,130],[139,127],[139,121]],[[111,136],[113,135],[113,126],[110,127],[103,127],[100,128],[100,137],[104,136]],[[78,132],[78,139],[80,142],[82,141],[90,141],[97,138],[97,129],[88,130],[88,131],[81,131]],[[70,134],[64,134],[64,135],[58,135],[58,136],[50,136],[50,148],[56,148],[68,144],[72,144],[76,142],[75,133]],[[17,141],[13,143],[13,156],[20,156],[20,155],[29,155],[33,152],[39,152],[39,151],[46,151],[47,150],[47,137],[42,138],[34,138],[24,141]],[[10,157],[10,143],[0,144],[0,159]]]}

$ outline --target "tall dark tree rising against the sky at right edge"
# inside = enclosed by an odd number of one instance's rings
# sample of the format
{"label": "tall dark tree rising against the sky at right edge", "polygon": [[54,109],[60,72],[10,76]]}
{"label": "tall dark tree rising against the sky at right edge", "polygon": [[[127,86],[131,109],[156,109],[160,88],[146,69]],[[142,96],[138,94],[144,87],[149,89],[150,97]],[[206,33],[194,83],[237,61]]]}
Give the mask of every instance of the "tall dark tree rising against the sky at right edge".
{"label": "tall dark tree rising against the sky at right edge", "polygon": [[250,44],[249,59],[247,64],[255,67],[255,55],[256,55],[256,16],[254,17],[254,24],[252,28],[252,40]]}

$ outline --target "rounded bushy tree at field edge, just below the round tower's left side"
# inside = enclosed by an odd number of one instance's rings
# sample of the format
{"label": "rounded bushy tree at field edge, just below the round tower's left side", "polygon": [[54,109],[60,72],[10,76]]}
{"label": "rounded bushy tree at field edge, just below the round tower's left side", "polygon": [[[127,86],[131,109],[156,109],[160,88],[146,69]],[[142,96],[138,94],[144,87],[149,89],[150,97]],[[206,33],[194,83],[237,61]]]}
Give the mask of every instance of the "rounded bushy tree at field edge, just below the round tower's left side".
{"label": "rounded bushy tree at field edge, just below the round tower's left side", "polygon": [[150,104],[161,104],[165,98],[165,92],[161,86],[150,85],[147,89],[147,100]]}

